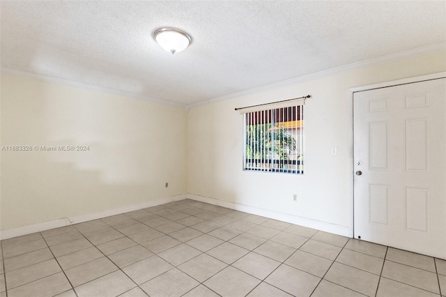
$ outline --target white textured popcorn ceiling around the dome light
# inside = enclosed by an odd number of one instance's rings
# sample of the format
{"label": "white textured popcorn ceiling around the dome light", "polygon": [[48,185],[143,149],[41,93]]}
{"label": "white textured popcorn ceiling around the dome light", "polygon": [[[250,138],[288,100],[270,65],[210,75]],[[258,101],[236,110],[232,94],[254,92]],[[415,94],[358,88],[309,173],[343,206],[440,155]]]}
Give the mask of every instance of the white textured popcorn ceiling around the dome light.
{"label": "white textured popcorn ceiling around the dome light", "polygon": [[[445,42],[446,1],[1,1],[1,66],[191,105]],[[192,45],[152,38],[174,26]]]}

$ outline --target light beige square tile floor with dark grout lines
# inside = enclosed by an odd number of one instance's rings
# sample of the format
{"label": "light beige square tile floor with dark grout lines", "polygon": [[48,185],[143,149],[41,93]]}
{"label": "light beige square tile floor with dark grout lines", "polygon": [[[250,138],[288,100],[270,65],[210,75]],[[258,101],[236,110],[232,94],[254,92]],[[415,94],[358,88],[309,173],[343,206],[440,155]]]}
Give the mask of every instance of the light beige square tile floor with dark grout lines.
{"label": "light beige square tile floor with dark grout lines", "polygon": [[446,296],[446,261],[183,200],[1,241],[0,297]]}

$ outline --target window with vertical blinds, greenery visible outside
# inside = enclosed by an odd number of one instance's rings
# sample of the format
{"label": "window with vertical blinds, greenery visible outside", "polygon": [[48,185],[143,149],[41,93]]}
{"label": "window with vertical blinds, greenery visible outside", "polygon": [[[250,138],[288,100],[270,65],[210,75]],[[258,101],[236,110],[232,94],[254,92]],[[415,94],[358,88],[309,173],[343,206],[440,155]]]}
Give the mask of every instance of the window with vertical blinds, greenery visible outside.
{"label": "window with vertical blinds, greenery visible outside", "polygon": [[303,105],[245,113],[244,170],[303,174]]}

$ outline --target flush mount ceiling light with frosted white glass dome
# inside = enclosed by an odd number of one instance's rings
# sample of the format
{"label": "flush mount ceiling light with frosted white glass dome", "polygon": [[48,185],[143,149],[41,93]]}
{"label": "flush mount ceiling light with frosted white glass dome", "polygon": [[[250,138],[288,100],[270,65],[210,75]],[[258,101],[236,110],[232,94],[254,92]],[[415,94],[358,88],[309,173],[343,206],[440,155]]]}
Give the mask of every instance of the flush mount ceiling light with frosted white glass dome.
{"label": "flush mount ceiling light with frosted white glass dome", "polygon": [[185,31],[175,28],[160,28],[153,32],[153,38],[167,52],[181,52],[192,43],[192,38]]}

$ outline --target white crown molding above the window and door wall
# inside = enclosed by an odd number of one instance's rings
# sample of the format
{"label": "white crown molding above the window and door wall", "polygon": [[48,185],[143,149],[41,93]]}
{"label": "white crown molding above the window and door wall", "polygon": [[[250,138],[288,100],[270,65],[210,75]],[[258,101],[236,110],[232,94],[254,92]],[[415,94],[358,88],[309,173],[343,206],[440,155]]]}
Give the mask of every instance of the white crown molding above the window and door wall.
{"label": "white crown molding above the window and door wall", "polygon": [[442,52],[442,51],[446,51],[446,42],[434,43],[432,45],[425,45],[423,47],[415,47],[414,49],[411,49],[411,50],[396,52],[394,54],[387,54],[385,56],[380,56],[380,57],[374,58],[374,59],[351,63],[348,65],[339,66],[339,67],[331,68],[328,70],[323,70],[323,71],[320,71],[317,73],[311,73],[309,75],[302,75],[300,77],[294,77],[291,79],[282,80],[281,82],[275,82],[272,84],[266,84],[264,86],[247,89],[245,91],[240,91],[240,92],[236,92],[236,93],[230,93],[230,94],[224,95],[224,96],[210,98],[207,100],[203,100],[203,101],[194,103],[192,105],[187,105],[187,109],[191,109],[192,107],[197,107],[199,105],[206,105],[211,102],[229,100],[229,99],[240,97],[240,96],[247,96],[247,95],[251,95],[254,93],[258,93],[260,91],[266,91],[268,89],[276,88],[279,86],[286,86],[289,84],[307,82],[309,80],[320,79],[323,77],[330,77],[332,75],[346,73],[346,72],[352,71],[352,70],[368,68],[368,67],[380,65],[383,63],[390,63],[393,61],[409,59],[409,58],[412,58],[415,56],[423,56],[424,54],[432,54],[434,52]]}

